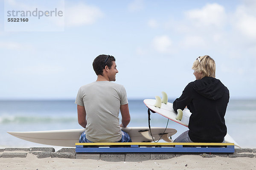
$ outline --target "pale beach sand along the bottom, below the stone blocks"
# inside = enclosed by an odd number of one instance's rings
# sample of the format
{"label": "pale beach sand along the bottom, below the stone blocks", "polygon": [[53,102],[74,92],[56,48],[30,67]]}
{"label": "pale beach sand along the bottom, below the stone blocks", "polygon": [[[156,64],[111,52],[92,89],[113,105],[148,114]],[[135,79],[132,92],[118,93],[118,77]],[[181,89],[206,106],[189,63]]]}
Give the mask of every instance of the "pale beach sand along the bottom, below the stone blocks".
{"label": "pale beach sand along the bottom, below the stone blocks", "polygon": [[0,158],[0,170],[256,170],[256,158],[203,158],[184,155],[166,160],[109,162],[92,159]]}

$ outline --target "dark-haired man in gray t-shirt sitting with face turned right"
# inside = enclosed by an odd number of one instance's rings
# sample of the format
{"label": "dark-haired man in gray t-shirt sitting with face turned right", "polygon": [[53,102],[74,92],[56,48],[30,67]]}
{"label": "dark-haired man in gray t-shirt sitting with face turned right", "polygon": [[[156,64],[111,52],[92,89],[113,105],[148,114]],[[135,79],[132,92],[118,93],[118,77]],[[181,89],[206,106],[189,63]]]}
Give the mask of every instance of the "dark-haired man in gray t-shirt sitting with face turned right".
{"label": "dark-haired man in gray t-shirt sitting with face turned right", "polygon": [[[126,91],[116,81],[116,59],[99,55],[93,61],[96,82],[79,88],[76,104],[79,125],[85,128],[79,142],[131,142],[128,133],[120,127],[130,122]],[[119,111],[122,123],[119,125]]]}

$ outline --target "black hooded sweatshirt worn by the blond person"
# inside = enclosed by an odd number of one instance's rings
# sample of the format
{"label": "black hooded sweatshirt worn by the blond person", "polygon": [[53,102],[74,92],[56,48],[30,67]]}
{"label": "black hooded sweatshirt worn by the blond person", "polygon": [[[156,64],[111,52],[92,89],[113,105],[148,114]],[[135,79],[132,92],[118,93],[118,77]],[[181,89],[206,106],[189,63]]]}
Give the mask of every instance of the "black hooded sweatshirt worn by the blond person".
{"label": "black hooded sweatshirt worn by the blond person", "polygon": [[223,142],[227,134],[225,113],[229,91],[219,79],[204,77],[190,82],[173,109],[186,106],[192,113],[189,118],[189,138],[193,142]]}

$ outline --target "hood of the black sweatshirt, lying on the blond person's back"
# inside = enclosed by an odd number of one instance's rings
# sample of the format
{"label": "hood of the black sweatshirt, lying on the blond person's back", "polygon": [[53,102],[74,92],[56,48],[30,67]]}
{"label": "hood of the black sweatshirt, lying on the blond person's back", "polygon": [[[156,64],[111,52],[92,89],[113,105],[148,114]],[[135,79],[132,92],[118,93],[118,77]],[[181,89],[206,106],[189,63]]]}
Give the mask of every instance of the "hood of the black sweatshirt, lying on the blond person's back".
{"label": "hood of the black sweatshirt, lying on the blond person's back", "polygon": [[195,80],[193,88],[201,96],[212,100],[218,100],[223,96],[226,87],[219,79],[204,77],[200,80]]}

